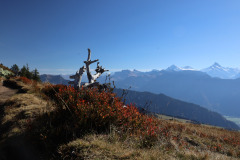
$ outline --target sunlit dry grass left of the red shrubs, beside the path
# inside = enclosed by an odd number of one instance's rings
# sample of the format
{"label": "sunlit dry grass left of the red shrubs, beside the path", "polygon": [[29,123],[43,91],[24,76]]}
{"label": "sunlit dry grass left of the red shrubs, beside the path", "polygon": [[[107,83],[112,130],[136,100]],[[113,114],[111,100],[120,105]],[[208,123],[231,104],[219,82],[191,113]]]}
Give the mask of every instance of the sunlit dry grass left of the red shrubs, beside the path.
{"label": "sunlit dry grass left of the red shrubs, beside the path", "polygon": [[21,86],[21,90],[24,89],[26,93],[15,94],[5,102],[1,125],[7,126],[8,129],[2,132],[3,139],[23,134],[34,119],[54,110],[50,102],[42,99],[39,92],[34,91],[32,85],[15,80],[14,82]]}

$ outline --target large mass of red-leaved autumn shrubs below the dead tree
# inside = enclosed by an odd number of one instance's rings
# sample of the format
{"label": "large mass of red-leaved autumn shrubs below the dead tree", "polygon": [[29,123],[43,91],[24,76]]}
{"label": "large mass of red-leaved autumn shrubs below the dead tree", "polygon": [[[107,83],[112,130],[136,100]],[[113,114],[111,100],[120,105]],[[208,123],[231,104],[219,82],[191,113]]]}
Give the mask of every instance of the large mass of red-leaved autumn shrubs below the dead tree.
{"label": "large mass of red-leaved autumn shrubs below the dead tree", "polygon": [[[73,123],[79,128],[107,131],[114,125],[120,133],[143,138],[156,138],[159,134],[159,122],[155,118],[141,114],[133,105],[124,106],[114,93],[84,88],[78,91],[71,86],[59,85],[54,86],[54,90],[56,102],[59,105],[64,102],[71,113],[65,114],[66,118],[72,116]],[[50,90],[47,93],[53,94]]]}

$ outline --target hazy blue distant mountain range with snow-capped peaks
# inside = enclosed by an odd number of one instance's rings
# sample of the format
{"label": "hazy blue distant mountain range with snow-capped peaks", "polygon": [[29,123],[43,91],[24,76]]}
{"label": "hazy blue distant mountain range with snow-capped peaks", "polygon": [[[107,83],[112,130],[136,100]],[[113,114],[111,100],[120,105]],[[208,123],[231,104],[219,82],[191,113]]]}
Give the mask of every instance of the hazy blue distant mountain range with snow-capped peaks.
{"label": "hazy blue distant mountain range with snow-capped peaks", "polygon": [[[240,117],[240,79],[221,79],[209,76],[210,73],[212,76],[213,74],[217,75],[215,71],[222,72],[229,77],[238,75],[237,69],[222,67],[215,63],[201,71],[194,70],[189,66],[180,68],[174,65],[161,71],[122,70],[113,73],[111,80],[115,82],[117,88],[128,89],[131,87],[131,90],[134,91],[162,93],[204,106],[223,115]],[[101,76],[98,81],[104,83],[105,79],[106,77]],[[49,79],[52,83],[63,81],[54,82],[52,80]]]}

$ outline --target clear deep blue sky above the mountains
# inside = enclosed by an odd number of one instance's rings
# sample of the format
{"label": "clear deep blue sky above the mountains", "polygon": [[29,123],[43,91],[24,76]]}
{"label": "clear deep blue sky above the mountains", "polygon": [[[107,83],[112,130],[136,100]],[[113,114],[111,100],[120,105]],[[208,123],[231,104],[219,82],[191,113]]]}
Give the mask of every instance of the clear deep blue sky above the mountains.
{"label": "clear deep blue sky above the mountains", "polygon": [[240,1],[0,0],[4,65],[74,73],[87,48],[111,71],[240,68]]}

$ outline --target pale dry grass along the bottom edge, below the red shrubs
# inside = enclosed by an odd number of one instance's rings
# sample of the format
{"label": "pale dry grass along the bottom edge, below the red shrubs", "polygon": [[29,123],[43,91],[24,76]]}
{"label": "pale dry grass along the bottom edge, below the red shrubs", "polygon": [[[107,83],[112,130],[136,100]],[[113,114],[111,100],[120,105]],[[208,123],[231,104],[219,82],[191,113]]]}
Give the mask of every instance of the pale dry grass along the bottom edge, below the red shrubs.
{"label": "pale dry grass along the bottom edge, below the red shrubs", "polygon": [[[152,159],[152,160],[234,160],[237,158],[199,150],[177,149],[173,141],[158,143],[150,149],[139,148],[129,137],[112,141],[113,135],[87,135],[59,147],[61,159]],[[114,137],[116,138],[116,137]]]}

